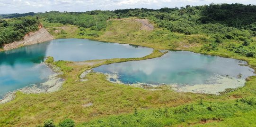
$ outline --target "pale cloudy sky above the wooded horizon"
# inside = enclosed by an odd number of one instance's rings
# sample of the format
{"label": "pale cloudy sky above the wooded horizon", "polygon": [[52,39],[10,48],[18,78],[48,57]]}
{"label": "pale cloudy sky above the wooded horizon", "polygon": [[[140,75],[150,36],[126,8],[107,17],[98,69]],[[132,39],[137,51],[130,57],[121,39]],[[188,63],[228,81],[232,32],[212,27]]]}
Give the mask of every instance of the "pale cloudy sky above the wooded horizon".
{"label": "pale cloudy sky above the wooded horizon", "polygon": [[[174,8],[210,3],[254,4],[256,0],[0,0],[0,14],[45,11],[115,10],[125,8]],[[89,8],[88,8],[89,7]]]}

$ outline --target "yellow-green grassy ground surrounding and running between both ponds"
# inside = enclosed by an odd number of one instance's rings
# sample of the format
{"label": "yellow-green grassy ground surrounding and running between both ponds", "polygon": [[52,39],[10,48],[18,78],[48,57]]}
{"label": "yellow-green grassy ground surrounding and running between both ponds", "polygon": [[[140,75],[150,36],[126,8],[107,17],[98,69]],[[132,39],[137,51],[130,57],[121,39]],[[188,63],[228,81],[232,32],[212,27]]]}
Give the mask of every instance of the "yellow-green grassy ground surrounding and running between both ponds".
{"label": "yellow-green grassy ground surrounding and running between both ponds", "polygon": [[[141,24],[129,18],[109,20],[106,30],[100,32],[72,25],[43,24],[55,39],[87,38],[154,49],[188,50],[246,60],[251,67],[256,67],[255,58],[240,56],[223,48],[231,43],[229,41],[221,43],[218,50],[206,51],[202,48],[211,40],[206,35],[183,35],[157,26],[153,31],[141,31]],[[82,35],[80,32],[93,34]],[[163,53],[155,50],[143,58],[93,60],[85,64],[53,62],[51,64],[64,72],[62,78],[65,83],[62,89],[48,94],[26,95],[18,92],[15,100],[0,105],[0,126],[35,127],[43,125],[46,119],[54,119],[55,123],[59,123],[66,118],[75,120],[78,127],[256,125],[255,76],[247,79],[245,87],[223,92],[222,95],[177,93],[167,87],[146,90],[108,82],[105,75],[100,73],[89,73],[87,81],[79,81],[80,73],[101,64],[143,60],[161,55]],[[86,64],[88,62],[96,64]]]}

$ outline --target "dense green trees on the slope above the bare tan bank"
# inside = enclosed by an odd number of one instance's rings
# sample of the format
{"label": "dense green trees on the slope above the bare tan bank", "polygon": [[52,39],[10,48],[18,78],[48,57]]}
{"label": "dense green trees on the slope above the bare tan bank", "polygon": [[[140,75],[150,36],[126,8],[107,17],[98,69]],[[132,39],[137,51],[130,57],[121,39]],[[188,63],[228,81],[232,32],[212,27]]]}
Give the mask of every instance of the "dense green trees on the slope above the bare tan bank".
{"label": "dense green trees on the slope above the bare tan bank", "polygon": [[0,47],[14,41],[22,40],[26,33],[37,31],[39,21],[36,17],[26,16],[0,19]]}

